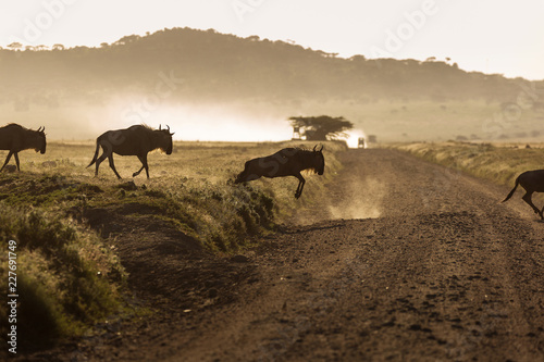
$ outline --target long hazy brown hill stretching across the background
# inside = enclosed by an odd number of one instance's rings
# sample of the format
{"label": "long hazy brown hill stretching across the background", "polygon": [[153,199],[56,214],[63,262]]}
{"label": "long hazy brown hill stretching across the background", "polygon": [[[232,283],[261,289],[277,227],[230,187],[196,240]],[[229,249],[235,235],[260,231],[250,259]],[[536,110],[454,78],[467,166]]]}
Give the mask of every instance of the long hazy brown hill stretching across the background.
{"label": "long hazy brown hill stretching across the background", "polygon": [[331,111],[337,113],[331,115],[348,117],[376,102],[502,104],[515,102],[520,87],[535,87],[434,59],[343,59],[257,36],[189,28],[126,36],[100,48],[1,49],[0,80],[0,107],[17,112],[75,103],[98,108],[119,97],[168,93],[174,104],[261,102],[281,109],[285,118],[314,109],[326,112],[308,105],[324,102],[335,102]]}

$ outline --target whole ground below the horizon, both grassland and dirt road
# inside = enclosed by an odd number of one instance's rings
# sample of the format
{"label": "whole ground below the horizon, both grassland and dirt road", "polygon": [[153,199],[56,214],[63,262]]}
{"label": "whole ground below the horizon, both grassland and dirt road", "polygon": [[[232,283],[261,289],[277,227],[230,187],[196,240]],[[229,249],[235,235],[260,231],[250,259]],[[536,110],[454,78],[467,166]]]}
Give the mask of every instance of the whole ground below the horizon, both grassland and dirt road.
{"label": "whole ground below the horizon, both grassland and dirt road", "polygon": [[18,359],[544,360],[544,224],[500,203],[540,145],[324,142],[298,200],[293,177],[232,183],[292,145],[175,142],[150,179],[116,157],[122,180],[90,141],[22,152],[0,174]]}

